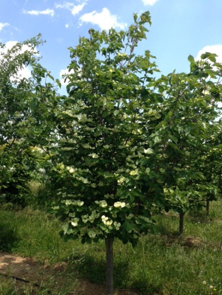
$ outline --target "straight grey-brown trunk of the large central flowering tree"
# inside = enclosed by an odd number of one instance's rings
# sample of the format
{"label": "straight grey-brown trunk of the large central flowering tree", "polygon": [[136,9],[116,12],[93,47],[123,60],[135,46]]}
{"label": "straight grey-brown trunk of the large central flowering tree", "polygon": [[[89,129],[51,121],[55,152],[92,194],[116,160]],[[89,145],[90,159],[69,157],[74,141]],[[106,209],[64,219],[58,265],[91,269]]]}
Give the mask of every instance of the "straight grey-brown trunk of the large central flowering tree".
{"label": "straight grey-brown trunk of the large central flowering tree", "polygon": [[113,295],[113,238],[106,238],[106,295]]}

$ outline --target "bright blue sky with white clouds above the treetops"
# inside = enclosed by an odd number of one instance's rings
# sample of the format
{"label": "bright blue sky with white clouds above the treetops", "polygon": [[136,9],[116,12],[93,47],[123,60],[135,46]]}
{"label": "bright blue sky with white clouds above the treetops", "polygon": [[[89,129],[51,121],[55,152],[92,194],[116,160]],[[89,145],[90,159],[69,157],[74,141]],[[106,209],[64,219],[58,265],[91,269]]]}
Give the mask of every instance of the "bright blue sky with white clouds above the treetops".
{"label": "bright blue sky with white clouds above the treetops", "polygon": [[188,71],[187,56],[203,51],[222,62],[222,0],[0,0],[0,41],[10,46],[42,33],[41,63],[59,78],[70,61],[67,47],[90,27],[127,28],[133,12],[146,10],[152,25],[139,53],[149,49],[163,74]]}

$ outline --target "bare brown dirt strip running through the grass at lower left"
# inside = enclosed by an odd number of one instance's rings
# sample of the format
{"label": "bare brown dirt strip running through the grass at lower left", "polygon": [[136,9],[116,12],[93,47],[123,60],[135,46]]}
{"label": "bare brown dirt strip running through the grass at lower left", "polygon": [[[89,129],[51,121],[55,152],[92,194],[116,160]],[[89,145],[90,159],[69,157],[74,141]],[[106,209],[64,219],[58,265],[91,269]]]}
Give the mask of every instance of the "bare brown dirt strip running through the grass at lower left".
{"label": "bare brown dirt strip running through the grass at lower left", "polygon": [[[80,278],[70,278],[65,273],[66,264],[56,264],[53,268],[42,265],[38,261],[29,257],[8,254],[0,251],[0,274],[17,278],[19,285],[31,284],[48,287],[59,293],[62,288],[70,287],[70,294],[74,295],[104,295],[105,287],[90,283]],[[49,292],[50,293],[50,292]],[[55,294],[54,293],[54,294]],[[32,294],[35,294],[35,290]],[[132,291],[117,291],[115,295],[137,295]]]}

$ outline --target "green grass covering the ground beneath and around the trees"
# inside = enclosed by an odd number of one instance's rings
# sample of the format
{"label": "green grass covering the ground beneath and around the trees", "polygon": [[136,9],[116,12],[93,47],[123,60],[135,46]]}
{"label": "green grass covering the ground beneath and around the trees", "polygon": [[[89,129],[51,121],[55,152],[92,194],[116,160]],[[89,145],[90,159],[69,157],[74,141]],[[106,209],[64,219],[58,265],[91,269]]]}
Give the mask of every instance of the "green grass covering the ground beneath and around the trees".
{"label": "green grass covering the ground beneath and around the trees", "polygon": [[[153,295],[222,294],[222,200],[212,202],[209,216],[185,216],[182,237],[175,234],[178,216],[168,214],[156,217],[160,233],[141,237],[136,247],[116,240],[115,287]],[[104,283],[104,242],[66,242],[60,228],[57,218],[40,210],[0,210],[0,249],[51,265],[68,261],[73,276]],[[0,295],[14,294],[13,287],[1,280]]]}

